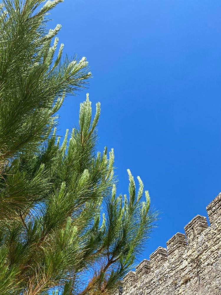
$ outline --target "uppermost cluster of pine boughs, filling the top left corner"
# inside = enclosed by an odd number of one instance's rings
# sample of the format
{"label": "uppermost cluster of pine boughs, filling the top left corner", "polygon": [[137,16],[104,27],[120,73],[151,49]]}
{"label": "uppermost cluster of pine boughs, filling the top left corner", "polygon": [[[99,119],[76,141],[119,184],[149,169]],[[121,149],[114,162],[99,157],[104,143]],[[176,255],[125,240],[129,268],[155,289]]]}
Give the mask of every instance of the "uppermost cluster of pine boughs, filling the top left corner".
{"label": "uppermost cluster of pine boughs, filling the top left corner", "polygon": [[[0,163],[47,139],[66,94],[91,76],[85,58],[55,57],[60,25],[47,14],[63,0],[3,0],[0,7]],[[23,3],[24,2],[24,3]],[[52,39],[55,37],[52,44]]]}

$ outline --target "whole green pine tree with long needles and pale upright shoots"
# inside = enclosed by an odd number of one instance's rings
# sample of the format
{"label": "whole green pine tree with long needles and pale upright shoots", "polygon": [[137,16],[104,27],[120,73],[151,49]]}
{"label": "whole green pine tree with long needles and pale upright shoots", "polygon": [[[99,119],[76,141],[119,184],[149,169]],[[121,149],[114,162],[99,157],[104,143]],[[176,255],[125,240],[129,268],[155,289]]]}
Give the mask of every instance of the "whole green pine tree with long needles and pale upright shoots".
{"label": "whole green pine tree with long needles and pale upright shoots", "polygon": [[[116,194],[114,153],[97,152],[100,104],[87,94],[62,142],[56,114],[85,87],[85,58],[62,61],[47,14],[62,0],[4,0],[0,48],[0,294],[111,294],[156,220],[128,170]],[[53,45],[51,45],[54,39]]]}

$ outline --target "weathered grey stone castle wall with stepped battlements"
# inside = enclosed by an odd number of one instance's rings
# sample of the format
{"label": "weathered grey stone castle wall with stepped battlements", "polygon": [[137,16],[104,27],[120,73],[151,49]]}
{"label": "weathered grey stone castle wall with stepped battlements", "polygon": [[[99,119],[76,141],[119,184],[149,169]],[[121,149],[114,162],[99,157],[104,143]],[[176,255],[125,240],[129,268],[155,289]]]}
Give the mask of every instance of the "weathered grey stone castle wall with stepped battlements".
{"label": "weathered grey stone castle wall with stepped battlements", "polygon": [[194,217],[125,276],[123,295],[221,295],[221,193],[206,209],[210,227]]}

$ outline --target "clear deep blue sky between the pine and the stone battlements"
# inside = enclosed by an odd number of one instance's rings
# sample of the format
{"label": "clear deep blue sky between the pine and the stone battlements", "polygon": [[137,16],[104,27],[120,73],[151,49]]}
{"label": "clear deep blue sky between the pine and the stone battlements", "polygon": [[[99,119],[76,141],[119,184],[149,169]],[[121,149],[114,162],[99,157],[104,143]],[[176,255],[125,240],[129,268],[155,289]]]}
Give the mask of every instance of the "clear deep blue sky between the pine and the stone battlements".
{"label": "clear deep blue sky between the pine and the stone battlements", "polygon": [[[64,52],[85,56],[101,102],[99,149],[115,150],[118,193],[130,168],[159,209],[149,255],[166,246],[221,191],[221,3],[218,0],[65,0]],[[77,124],[86,91],[60,110],[60,133]]]}

